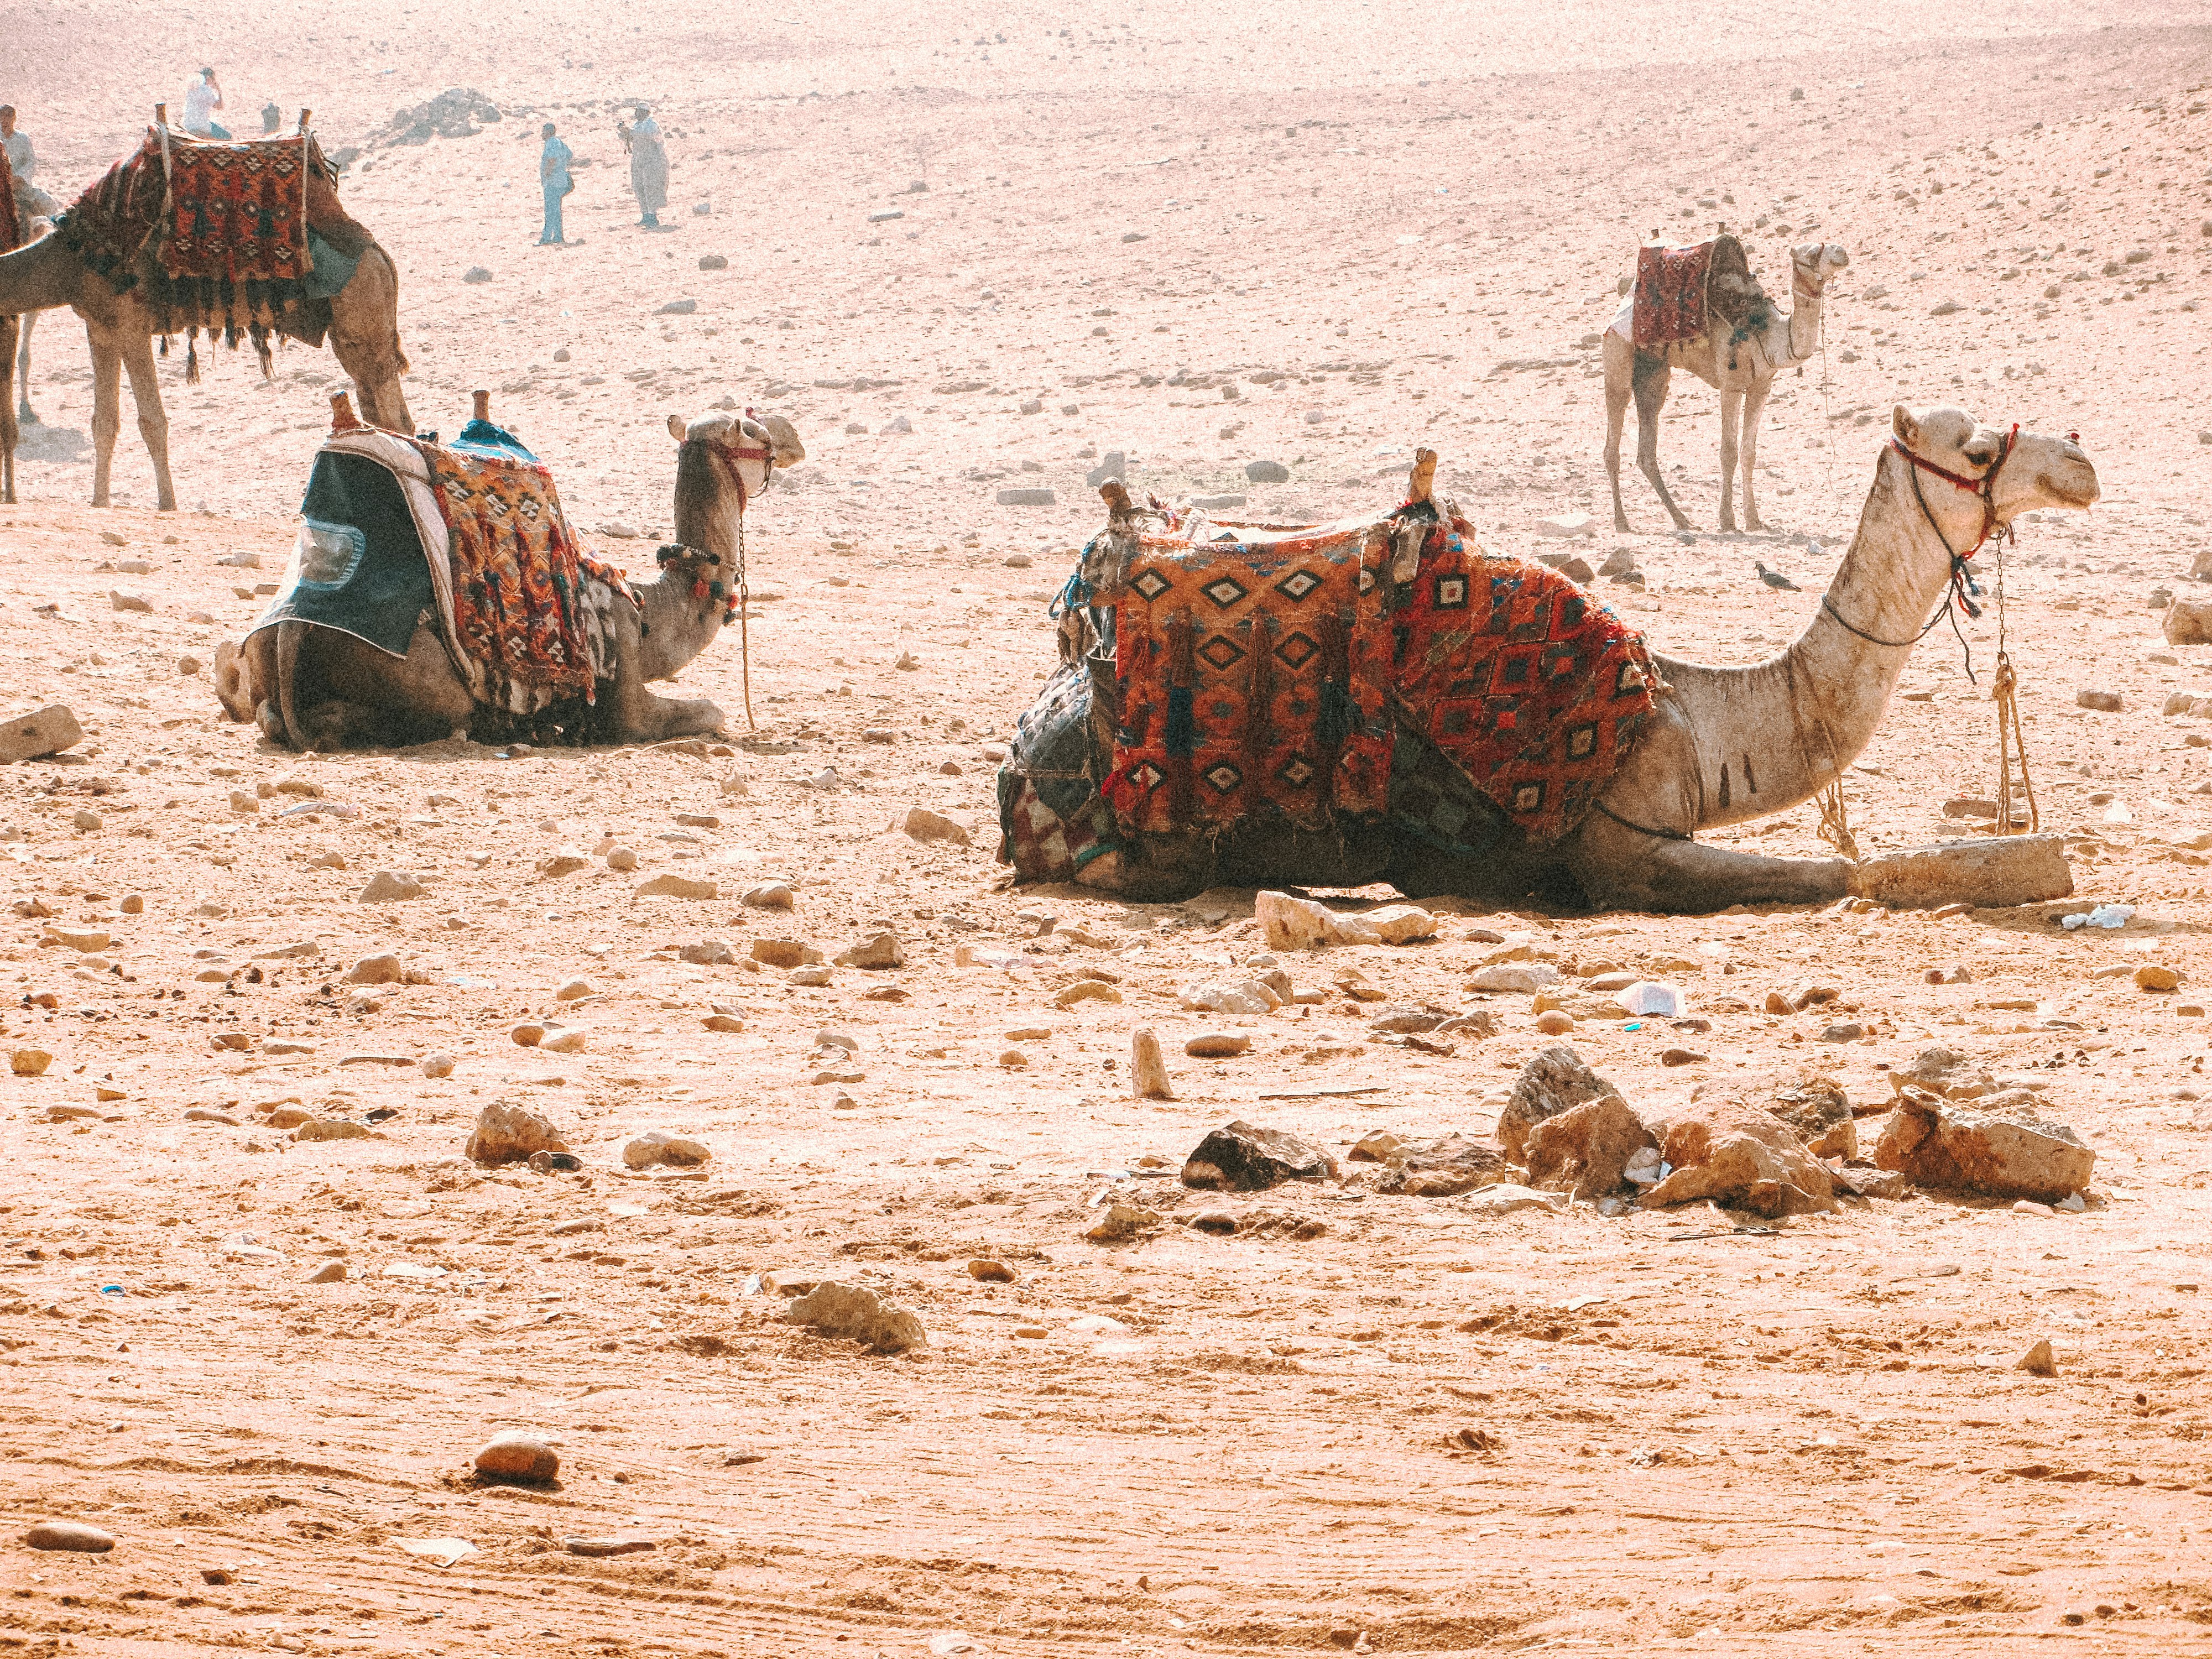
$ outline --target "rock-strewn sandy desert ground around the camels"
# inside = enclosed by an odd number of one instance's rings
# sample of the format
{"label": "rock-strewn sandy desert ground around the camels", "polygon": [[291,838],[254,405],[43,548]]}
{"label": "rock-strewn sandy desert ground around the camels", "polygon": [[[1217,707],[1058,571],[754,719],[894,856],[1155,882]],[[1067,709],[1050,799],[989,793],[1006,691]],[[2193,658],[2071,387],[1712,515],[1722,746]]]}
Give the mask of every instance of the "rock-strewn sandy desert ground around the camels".
{"label": "rock-strewn sandy desert ground around the camels", "polygon": [[[2212,695],[2212,648],[2168,646],[2154,593],[2212,553],[2212,7],[0,4],[0,97],[64,197],[199,62],[246,126],[268,97],[312,104],[325,144],[361,148],[345,199],[400,265],[416,418],[451,431],[491,387],[608,557],[648,544],[602,526],[668,524],[670,411],[774,409],[812,453],[750,520],[757,732],[303,759],[223,721],[181,659],[210,661],[281,571],[334,361],[292,347],[261,385],[219,354],[186,387],[170,358],[186,511],[148,511],[126,422],[122,504],[95,513],[82,332],[40,321],[0,664],[9,710],[69,703],[86,739],[0,779],[4,1044],[53,1055],[0,1113],[0,1652],[2205,1641],[2212,1044],[2190,998],[2212,973],[2212,726],[2161,708]],[[504,119],[389,142],[394,108],[447,86]],[[624,188],[635,97],[672,135],[664,234]],[[540,119],[591,164],[566,250],[531,246]],[[1750,661],[1812,617],[1891,405],[2079,431],[2104,500],[2006,555],[2079,898],[1444,905],[1431,945],[1285,967],[1482,1006],[1500,1035],[1422,1053],[1332,998],[1228,1022],[1243,1057],[1183,1057],[1223,1022],[1179,993],[1263,949],[1252,896],[1022,891],[993,863],[991,745],[1102,522],[1086,471],[1124,451],[1141,489],[1283,520],[1394,504],[1431,445],[1486,546],[1557,551],[1540,518],[1610,520],[1595,338],[1617,279],[1652,228],[1721,221],[1770,276],[1792,241],[1851,252],[1825,356],[1767,414],[1776,529],[1710,533],[1717,405],[1677,376],[1663,460],[1708,529],[1657,533],[1630,476],[1644,533],[1575,551],[1635,555],[1646,591],[1599,586],[1657,644]],[[661,314],[675,299],[697,310]],[[1248,487],[1261,458],[1290,482]],[[1009,487],[1057,500],[995,504]],[[1969,630],[1978,672],[1993,622]],[[684,688],[737,714],[734,641]],[[1986,672],[1969,684],[1947,633],[1900,690],[1849,779],[1867,849],[1960,834],[1942,803],[1995,783]],[[971,845],[905,836],[914,805]],[[1809,807],[1723,838],[1820,852]],[[641,867],[608,869],[611,843]],[[564,847],[586,867],[540,876]],[[356,902],[376,869],[425,896]],[[635,894],[670,872],[719,898]],[[796,911],[737,902],[774,876]],[[2090,900],[2135,920],[2053,925]],[[878,929],[907,964],[823,987],[681,960]],[[2097,1150],[2093,1201],[1916,1194],[1734,1232],[1712,1210],[1482,1217],[1371,1177],[1177,1188],[1230,1117],[1338,1155],[1489,1133],[1548,1037],[1526,995],[1469,989],[1484,933],[1686,984],[1710,1020],[1694,1064],[1619,1020],[1571,1037],[1639,1110],[1801,1057],[1871,1106],[1947,1044],[2042,1084]],[[345,984],[385,951],[407,982]],[[2181,991],[2137,991],[2141,962]],[[1951,964],[1971,978],[1924,982]],[[1055,1002],[1102,971],[1121,1002]],[[1834,1006],[1761,1011],[1814,980],[1863,1037],[1820,1040]],[[546,1015],[584,1048],[509,1040]],[[1166,1040],[1177,1099],[1130,1099],[1135,1026]],[[414,1062],[440,1051],[456,1066],[429,1079]],[[469,1164],[500,1099],[584,1170]],[[299,1115],[372,1133],[270,1121]],[[644,1130],[712,1148],[703,1179],[626,1170]],[[1086,1243],[1117,1199],[1170,1225]],[[1206,1208],[1245,1225],[1172,1223]],[[330,1261],[349,1276],[310,1283]],[[776,1272],[869,1285],[929,1343],[799,1332]],[[2039,1338],[2053,1378],[2013,1369]],[[500,1429],[555,1436],[557,1484],[478,1484]],[[119,1542],[24,1548],[49,1517]],[[653,1548],[566,1546],[606,1537]]]}

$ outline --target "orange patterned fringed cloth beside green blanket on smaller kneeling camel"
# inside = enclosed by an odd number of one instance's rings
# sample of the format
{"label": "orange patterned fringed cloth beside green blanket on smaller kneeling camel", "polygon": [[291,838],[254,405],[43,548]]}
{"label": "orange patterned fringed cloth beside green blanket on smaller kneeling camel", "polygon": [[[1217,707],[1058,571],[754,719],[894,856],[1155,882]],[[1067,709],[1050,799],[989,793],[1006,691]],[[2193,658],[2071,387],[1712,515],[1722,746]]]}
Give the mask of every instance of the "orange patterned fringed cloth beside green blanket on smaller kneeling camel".
{"label": "orange patterned fringed cloth beside green blanket on smaller kneeling camel", "polygon": [[[615,617],[637,595],[622,571],[577,546],[544,462],[478,420],[451,445],[354,427],[332,434],[321,456],[372,460],[398,482],[440,633],[478,703],[535,714],[564,699],[595,701],[615,670]],[[316,538],[343,544],[361,533],[310,515],[296,562],[312,557]],[[261,626],[279,619],[274,611]],[[392,650],[372,628],[352,630]]]}

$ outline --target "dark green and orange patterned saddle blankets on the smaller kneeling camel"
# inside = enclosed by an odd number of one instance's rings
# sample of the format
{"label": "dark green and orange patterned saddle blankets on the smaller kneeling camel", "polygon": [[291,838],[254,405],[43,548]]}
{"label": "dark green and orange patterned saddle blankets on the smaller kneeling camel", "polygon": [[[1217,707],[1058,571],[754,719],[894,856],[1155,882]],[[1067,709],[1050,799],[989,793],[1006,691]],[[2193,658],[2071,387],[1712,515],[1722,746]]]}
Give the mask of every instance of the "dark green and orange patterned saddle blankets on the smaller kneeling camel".
{"label": "dark green and orange patterned saddle blankets on the smaller kneeling camel", "polygon": [[394,657],[436,622],[478,703],[535,714],[595,699],[615,668],[622,571],[586,555],[553,473],[471,420],[451,445],[374,427],[316,453],[299,544],[254,630],[312,622]]}

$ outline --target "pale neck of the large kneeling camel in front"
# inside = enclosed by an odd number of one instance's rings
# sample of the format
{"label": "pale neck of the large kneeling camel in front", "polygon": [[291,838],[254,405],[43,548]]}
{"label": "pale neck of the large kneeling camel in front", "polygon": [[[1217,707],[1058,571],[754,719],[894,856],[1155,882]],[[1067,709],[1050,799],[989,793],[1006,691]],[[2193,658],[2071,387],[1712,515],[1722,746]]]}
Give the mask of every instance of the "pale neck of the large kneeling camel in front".
{"label": "pale neck of the large kneeling camel in front", "polygon": [[1951,575],[1902,473],[1885,449],[1851,551],[1787,650],[1745,668],[1659,659],[1697,741],[1697,827],[1794,807],[1874,741]]}

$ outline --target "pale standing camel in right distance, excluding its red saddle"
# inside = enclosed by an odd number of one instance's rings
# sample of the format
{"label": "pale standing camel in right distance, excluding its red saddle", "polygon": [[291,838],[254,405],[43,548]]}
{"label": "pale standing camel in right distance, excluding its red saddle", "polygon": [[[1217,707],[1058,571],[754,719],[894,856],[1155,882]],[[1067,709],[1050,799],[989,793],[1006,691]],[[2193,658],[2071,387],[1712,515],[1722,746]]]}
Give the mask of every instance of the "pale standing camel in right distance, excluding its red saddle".
{"label": "pale standing camel in right distance, excluding its red saddle", "polygon": [[1752,487],[1759,469],[1759,418],[1765,414],[1776,372],[1805,363],[1820,349],[1820,307],[1827,281],[1849,263],[1851,254],[1834,241],[1809,241],[1794,248],[1790,252],[1794,312],[1783,316],[1763,292],[1754,292],[1750,314],[1741,325],[1714,316],[1703,336],[1657,352],[1637,349],[1630,338],[1628,307],[1621,307],[1604,336],[1606,476],[1613,480],[1613,529],[1635,529],[1621,507],[1621,427],[1630,398],[1637,405],[1637,471],[1659,491],[1674,529],[1690,529],[1690,520],[1668,493],[1666,478],[1659,476],[1659,411],[1666,407],[1668,378],[1674,369],[1694,374],[1721,394],[1721,529],[1736,529],[1739,456],[1743,460],[1743,526],[1765,529]]}

